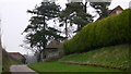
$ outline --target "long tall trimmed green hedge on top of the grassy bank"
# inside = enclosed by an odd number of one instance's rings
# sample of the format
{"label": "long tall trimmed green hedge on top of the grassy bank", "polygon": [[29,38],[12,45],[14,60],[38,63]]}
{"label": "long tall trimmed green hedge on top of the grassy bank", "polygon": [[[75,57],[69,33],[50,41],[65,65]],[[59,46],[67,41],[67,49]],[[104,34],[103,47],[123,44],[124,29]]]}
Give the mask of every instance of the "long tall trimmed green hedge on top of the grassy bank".
{"label": "long tall trimmed green hedge on top of the grassy bank", "polygon": [[82,52],[95,48],[128,44],[131,41],[131,9],[118,15],[87,24],[72,39],[63,44],[66,53]]}

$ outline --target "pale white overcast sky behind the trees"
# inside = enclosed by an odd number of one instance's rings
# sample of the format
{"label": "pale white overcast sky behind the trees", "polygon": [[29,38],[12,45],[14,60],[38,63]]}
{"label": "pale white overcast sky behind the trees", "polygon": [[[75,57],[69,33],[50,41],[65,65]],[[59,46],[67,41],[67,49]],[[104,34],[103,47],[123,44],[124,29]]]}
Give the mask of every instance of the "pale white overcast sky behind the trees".
{"label": "pale white overcast sky behind the trees", "polygon": [[[32,10],[43,0],[0,0],[0,20],[2,27],[2,46],[8,52],[21,52],[26,54],[27,49],[20,47],[23,44],[24,35],[21,35],[25,27],[29,24],[31,14],[27,10]],[[112,0],[109,9],[121,5],[123,9],[129,8],[131,0]],[[64,8],[66,0],[59,0],[60,5]]]}

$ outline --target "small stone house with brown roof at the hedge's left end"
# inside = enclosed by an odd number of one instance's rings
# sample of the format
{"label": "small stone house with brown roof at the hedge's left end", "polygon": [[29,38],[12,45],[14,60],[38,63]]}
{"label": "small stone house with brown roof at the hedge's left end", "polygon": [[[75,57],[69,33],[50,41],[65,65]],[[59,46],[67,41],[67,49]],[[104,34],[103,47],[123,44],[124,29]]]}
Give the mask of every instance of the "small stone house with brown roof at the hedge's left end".
{"label": "small stone house with brown roof at the hedge's left end", "polygon": [[62,44],[52,40],[40,53],[41,61],[59,58],[62,54]]}

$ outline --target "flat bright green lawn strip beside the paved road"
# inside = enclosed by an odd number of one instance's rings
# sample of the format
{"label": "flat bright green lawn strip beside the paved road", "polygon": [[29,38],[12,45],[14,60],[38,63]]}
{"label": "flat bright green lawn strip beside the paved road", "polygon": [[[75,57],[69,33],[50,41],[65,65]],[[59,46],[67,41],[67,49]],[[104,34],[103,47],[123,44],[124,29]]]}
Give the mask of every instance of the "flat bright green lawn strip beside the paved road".
{"label": "flat bright green lawn strip beside the paved road", "polygon": [[120,70],[87,66],[87,65],[75,65],[66,64],[59,62],[43,62],[28,65],[36,72],[122,72]]}

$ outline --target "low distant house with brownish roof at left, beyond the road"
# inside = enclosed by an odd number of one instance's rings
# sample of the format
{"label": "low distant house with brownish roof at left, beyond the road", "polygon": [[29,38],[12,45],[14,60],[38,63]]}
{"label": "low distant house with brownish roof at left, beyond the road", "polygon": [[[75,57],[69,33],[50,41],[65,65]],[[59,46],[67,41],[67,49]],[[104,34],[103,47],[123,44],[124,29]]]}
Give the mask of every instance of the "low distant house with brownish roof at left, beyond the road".
{"label": "low distant house with brownish roof at left, beyond the road", "polygon": [[25,60],[25,58],[24,58],[24,55],[22,55],[20,52],[8,52],[9,54],[10,54],[10,57],[12,58],[12,59],[14,59],[15,61],[19,61],[19,62],[25,62],[24,60]]}

